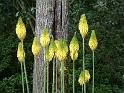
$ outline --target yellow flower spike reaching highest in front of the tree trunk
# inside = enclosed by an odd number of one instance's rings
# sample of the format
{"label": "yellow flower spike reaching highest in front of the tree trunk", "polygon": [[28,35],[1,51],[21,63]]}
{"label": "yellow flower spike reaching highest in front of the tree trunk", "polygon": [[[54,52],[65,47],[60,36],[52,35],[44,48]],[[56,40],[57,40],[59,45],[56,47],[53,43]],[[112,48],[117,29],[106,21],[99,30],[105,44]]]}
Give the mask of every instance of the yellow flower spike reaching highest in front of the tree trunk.
{"label": "yellow flower spike reaching highest in front of the tree trunk", "polygon": [[45,48],[46,46],[49,45],[49,42],[50,42],[50,36],[48,33],[48,28],[44,28],[40,37],[40,43],[42,47]]}

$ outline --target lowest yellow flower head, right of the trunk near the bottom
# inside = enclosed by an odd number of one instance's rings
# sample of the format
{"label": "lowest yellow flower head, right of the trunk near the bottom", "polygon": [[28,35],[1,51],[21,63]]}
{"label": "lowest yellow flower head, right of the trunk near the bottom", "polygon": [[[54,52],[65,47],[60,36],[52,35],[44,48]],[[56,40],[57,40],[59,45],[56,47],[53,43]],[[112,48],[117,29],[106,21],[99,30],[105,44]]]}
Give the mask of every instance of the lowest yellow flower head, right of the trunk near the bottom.
{"label": "lowest yellow flower head, right of the trunk near the bottom", "polygon": [[85,80],[84,80],[84,71],[81,72],[78,82],[80,85],[83,85],[84,83],[88,82],[90,80],[90,73],[88,70],[85,70]]}

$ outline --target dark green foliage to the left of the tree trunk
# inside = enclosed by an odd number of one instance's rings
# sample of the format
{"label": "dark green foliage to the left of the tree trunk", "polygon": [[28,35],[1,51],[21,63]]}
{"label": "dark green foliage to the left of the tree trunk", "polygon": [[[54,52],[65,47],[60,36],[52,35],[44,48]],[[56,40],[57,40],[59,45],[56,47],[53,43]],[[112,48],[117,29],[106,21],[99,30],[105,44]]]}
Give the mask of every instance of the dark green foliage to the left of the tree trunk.
{"label": "dark green foliage to the left of the tree trunk", "polygon": [[[0,0],[0,93],[22,93],[21,69],[16,57],[19,40],[15,34],[17,17],[20,15],[23,17],[27,28],[24,45],[29,84],[32,87],[33,55],[31,53],[31,38],[33,38],[33,34],[28,22],[31,17],[26,13],[24,15],[17,1],[19,0]],[[26,6],[26,11],[32,10],[32,12],[28,12],[31,15],[35,14],[33,12],[33,2],[30,2],[30,7]]]}

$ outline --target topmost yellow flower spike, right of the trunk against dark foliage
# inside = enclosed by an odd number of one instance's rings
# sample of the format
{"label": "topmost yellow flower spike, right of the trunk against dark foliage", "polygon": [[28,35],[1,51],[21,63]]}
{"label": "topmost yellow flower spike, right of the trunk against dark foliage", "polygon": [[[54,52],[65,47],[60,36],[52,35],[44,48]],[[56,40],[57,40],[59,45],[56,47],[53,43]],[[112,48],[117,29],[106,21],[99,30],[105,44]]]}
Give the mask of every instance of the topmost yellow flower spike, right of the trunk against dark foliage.
{"label": "topmost yellow flower spike, right of the trunk against dark foliage", "polygon": [[79,22],[79,30],[82,38],[85,38],[88,32],[88,24],[85,14],[81,15],[80,22]]}

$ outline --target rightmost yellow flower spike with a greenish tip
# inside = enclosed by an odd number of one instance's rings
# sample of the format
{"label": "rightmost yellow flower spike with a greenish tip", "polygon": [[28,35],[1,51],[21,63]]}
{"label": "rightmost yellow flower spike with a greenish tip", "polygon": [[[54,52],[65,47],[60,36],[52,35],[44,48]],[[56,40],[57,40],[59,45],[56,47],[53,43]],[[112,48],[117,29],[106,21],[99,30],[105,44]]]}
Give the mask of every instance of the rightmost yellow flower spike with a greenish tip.
{"label": "rightmost yellow flower spike with a greenish tip", "polygon": [[90,40],[89,40],[89,47],[91,48],[92,51],[94,51],[97,48],[98,42],[96,38],[95,31],[92,30]]}

